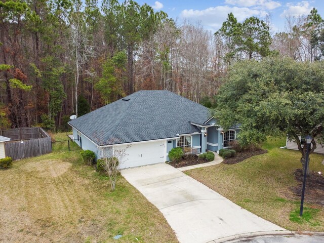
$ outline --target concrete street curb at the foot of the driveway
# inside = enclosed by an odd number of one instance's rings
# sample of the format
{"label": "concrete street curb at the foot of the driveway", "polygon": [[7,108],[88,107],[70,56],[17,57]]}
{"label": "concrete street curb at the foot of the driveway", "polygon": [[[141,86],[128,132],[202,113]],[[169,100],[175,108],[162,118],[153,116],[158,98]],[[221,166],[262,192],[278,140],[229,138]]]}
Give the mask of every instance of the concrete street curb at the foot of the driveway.
{"label": "concrete street curb at the foot of the driveway", "polygon": [[316,232],[316,231],[261,231],[261,232],[252,232],[245,234],[235,234],[219,239],[214,239],[212,241],[208,241],[206,243],[234,243],[242,240],[254,239],[258,237],[264,236],[294,236],[294,235],[319,235],[324,236],[324,232]]}

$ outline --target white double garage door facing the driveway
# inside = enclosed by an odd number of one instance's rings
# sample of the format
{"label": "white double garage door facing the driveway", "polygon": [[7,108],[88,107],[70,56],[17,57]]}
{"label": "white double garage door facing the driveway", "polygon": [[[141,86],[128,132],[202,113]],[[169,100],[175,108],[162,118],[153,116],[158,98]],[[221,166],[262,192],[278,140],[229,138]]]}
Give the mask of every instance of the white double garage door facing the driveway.
{"label": "white double garage door facing the driveway", "polygon": [[[152,165],[166,161],[165,141],[115,146],[114,150],[124,150],[126,156],[120,161],[119,169]],[[118,153],[118,152],[117,152]]]}

